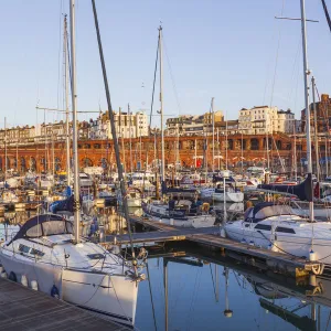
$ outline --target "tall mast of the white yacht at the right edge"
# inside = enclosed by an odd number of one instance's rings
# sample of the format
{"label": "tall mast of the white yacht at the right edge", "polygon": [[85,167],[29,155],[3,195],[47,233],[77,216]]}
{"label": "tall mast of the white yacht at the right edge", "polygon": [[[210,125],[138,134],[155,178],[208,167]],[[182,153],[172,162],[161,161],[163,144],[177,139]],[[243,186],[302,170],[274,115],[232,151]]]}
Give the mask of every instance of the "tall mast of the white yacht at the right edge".
{"label": "tall mast of the white yacht at the right edge", "polygon": [[[307,39],[306,39],[306,10],[305,0],[300,0],[301,4],[301,33],[302,33],[302,54],[303,54],[303,83],[305,83],[305,107],[306,107],[306,134],[307,134],[307,174],[312,188],[312,167],[311,167],[311,137],[310,137],[310,111],[308,102],[308,75],[310,71],[308,70],[307,60]],[[312,192],[309,201],[309,220],[313,221],[313,202]]]}

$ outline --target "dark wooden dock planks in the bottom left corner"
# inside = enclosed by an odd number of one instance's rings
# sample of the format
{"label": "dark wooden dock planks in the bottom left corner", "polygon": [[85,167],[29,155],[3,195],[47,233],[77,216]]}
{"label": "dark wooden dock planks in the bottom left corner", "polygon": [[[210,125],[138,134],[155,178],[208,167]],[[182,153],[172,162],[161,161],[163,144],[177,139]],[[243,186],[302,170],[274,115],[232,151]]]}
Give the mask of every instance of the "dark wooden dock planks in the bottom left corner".
{"label": "dark wooden dock planks in the bottom left corner", "polygon": [[125,331],[129,329],[43,292],[0,278],[0,330]]}

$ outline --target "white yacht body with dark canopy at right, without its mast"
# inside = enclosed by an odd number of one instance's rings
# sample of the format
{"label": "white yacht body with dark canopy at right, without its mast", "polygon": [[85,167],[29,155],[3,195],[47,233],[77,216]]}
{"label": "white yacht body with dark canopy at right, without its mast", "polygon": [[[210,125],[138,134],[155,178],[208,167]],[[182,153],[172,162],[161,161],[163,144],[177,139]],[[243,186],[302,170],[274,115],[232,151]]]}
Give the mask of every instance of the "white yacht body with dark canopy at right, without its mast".
{"label": "white yacht body with dark canopy at right, without its mast", "polygon": [[243,221],[225,224],[226,235],[263,248],[331,265],[331,222],[309,222],[288,205],[264,202],[249,209]]}

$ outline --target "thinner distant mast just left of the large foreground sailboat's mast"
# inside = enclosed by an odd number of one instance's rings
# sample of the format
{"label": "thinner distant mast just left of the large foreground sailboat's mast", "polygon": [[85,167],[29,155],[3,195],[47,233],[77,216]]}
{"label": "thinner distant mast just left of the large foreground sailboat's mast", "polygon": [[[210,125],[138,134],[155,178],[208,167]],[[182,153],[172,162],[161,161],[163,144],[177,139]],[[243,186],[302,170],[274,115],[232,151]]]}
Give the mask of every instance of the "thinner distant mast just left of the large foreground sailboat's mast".
{"label": "thinner distant mast just left of the large foreground sailboat's mast", "polygon": [[64,85],[65,85],[65,145],[66,145],[66,185],[71,185],[71,137],[70,137],[70,111],[68,111],[68,40],[67,40],[67,21],[64,15]]}

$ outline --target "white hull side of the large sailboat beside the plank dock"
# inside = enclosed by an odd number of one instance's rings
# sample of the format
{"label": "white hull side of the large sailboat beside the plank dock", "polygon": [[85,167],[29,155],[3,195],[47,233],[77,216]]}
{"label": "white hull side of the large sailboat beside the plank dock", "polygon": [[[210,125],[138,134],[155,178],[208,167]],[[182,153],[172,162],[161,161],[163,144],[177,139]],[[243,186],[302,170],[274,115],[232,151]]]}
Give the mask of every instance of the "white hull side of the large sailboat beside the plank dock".
{"label": "white hull side of the large sailboat beside the plank dock", "polygon": [[46,295],[51,295],[55,285],[64,301],[122,324],[135,323],[138,284],[124,275],[68,270],[52,264],[26,261],[19,254],[1,253],[0,260],[6,273],[14,273],[18,281],[23,275],[29,285],[36,280],[39,290]]}

